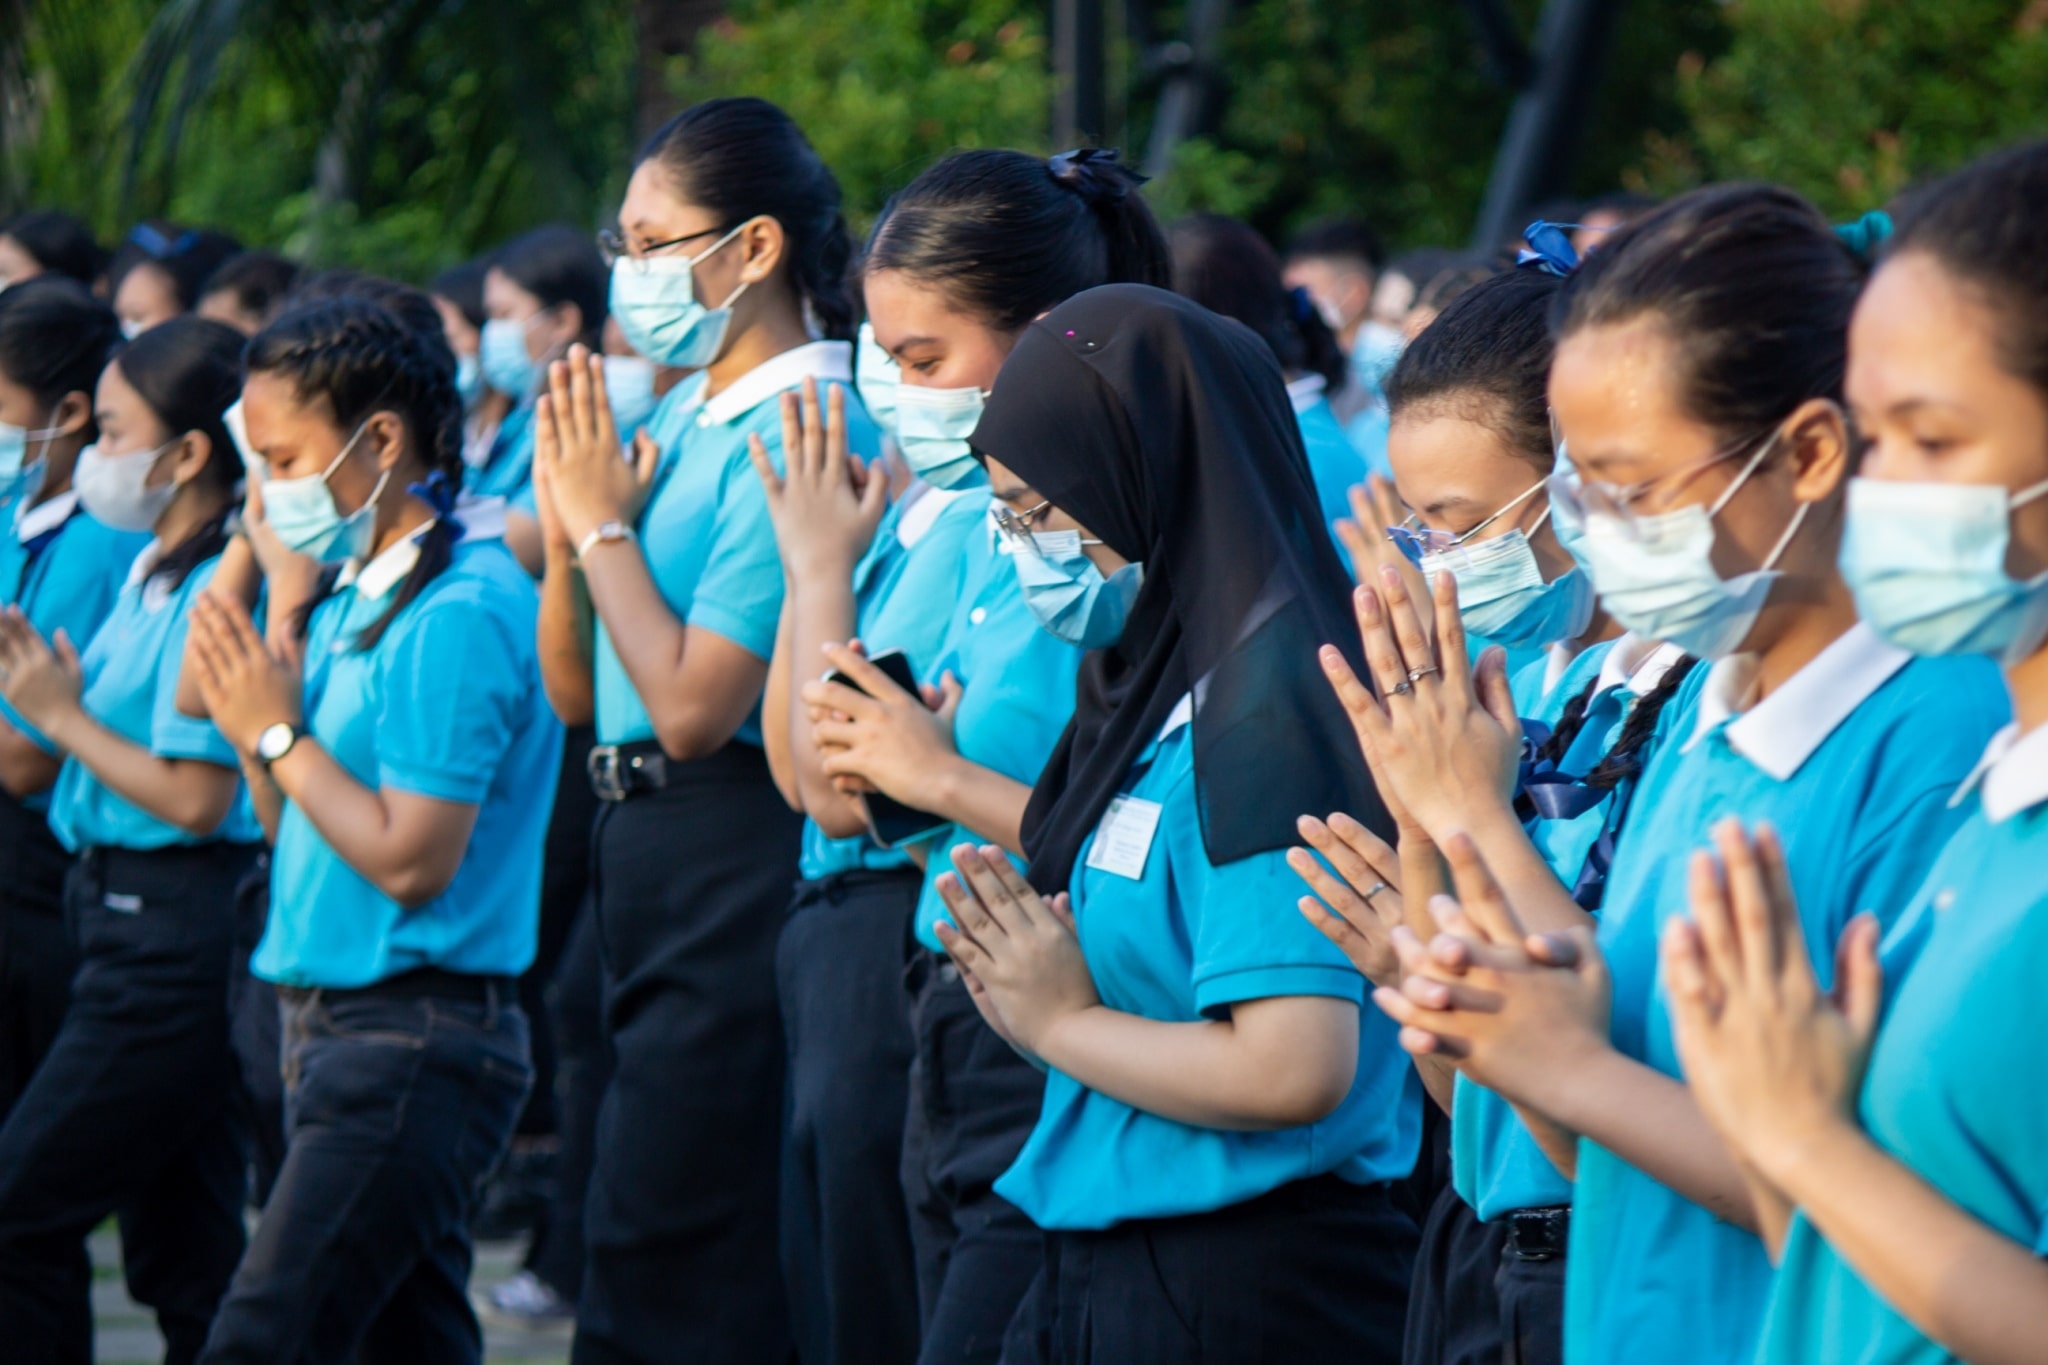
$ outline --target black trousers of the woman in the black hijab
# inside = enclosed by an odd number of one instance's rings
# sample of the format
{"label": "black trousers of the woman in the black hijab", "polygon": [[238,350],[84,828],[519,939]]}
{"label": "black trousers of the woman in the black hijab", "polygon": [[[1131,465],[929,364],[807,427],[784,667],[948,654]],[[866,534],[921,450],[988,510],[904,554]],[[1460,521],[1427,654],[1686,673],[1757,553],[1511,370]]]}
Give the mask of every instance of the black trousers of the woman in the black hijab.
{"label": "black trousers of the woman in the black hijab", "polygon": [[1001,1365],[1393,1365],[1415,1224],[1386,1185],[1047,1232]]}

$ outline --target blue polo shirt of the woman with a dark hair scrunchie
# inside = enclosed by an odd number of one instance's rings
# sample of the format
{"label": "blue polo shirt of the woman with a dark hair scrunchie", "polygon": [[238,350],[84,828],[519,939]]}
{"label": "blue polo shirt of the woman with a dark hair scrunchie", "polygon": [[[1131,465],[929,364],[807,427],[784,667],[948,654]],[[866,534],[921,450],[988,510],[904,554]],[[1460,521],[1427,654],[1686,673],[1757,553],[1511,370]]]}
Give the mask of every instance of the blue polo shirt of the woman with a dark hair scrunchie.
{"label": "blue polo shirt of the woman with a dark hair scrunchie", "polygon": [[[907,512],[901,503],[889,508],[874,544],[854,567],[854,630],[868,655],[903,651],[911,675],[930,675],[961,598],[967,538],[985,534],[987,522],[987,483],[926,489]],[[866,835],[831,839],[815,821],[803,823],[799,872],[809,880],[854,868],[909,866],[903,849],[877,847]]]}

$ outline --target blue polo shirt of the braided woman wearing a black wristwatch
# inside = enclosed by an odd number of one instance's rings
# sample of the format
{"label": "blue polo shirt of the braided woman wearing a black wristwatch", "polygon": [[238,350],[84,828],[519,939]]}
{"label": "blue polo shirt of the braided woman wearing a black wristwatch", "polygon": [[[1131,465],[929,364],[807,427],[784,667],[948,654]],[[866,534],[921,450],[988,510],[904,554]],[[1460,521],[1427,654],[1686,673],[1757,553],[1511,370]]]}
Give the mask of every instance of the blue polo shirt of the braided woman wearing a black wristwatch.
{"label": "blue polo shirt of the braided woman wearing a black wristwatch", "polygon": [[283,986],[367,986],[414,968],[516,976],[541,925],[541,851],[561,776],[561,724],[541,692],[541,598],[500,540],[455,561],[369,651],[418,557],[403,540],[313,610],[305,716],[313,739],[375,790],[477,806],[446,890],[403,909],[350,868],[293,804],[270,857],[270,923],[252,970]]}

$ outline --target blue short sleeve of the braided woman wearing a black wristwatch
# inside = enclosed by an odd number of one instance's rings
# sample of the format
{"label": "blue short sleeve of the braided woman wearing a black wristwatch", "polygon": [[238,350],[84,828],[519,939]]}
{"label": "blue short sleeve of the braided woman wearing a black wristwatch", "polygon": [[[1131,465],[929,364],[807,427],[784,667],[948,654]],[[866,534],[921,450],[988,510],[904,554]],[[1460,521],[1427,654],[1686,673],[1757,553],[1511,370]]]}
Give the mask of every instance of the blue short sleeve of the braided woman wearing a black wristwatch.
{"label": "blue short sleeve of the braided woman wearing a black wristwatch", "polygon": [[469,593],[436,596],[379,649],[379,784],[481,804],[535,686],[512,624]]}

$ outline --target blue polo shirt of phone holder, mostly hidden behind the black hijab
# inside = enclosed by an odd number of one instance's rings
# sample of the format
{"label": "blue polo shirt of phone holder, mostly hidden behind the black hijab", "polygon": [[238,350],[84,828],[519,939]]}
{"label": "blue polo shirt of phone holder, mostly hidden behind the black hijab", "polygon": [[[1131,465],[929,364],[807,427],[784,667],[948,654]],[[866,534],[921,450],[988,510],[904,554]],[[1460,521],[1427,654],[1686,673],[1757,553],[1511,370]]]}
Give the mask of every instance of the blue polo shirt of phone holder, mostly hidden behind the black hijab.
{"label": "blue polo shirt of phone holder, mostly hidden behind the black hijab", "polygon": [[[1024,589],[1010,565],[1010,544],[993,522],[967,536],[967,573],[946,624],[946,643],[926,681],[948,671],[961,679],[961,708],[952,716],[952,743],[961,757],[1026,786],[1073,720],[1073,684],[1081,651],[1038,624],[1024,606]],[[948,825],[930,843],[924,892],[918,898],[918,941],[944,952],[932,925],[952,919],[938,896],[938,878],[952,868],[952,849],[993,843],[965,825]],[[1012,860],[1016,862],[1016,860]],[[1022,866],[1022,864],[1020,864]]]}

